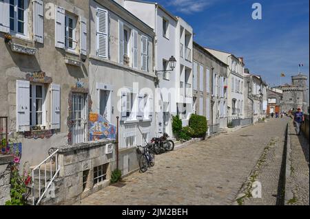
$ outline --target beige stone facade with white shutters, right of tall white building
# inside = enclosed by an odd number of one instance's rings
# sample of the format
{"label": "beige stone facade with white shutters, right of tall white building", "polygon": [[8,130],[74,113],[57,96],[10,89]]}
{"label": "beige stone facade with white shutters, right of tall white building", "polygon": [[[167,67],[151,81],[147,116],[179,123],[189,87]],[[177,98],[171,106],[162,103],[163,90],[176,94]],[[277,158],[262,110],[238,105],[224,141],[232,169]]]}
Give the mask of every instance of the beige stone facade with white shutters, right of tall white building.
{"label": "beige stone facade with white shutters, right of tall white building", "polygon": [[218,132],[227,126],[227,65],[194,42],[193,72],[194,113],[207,117],[208,134]]}

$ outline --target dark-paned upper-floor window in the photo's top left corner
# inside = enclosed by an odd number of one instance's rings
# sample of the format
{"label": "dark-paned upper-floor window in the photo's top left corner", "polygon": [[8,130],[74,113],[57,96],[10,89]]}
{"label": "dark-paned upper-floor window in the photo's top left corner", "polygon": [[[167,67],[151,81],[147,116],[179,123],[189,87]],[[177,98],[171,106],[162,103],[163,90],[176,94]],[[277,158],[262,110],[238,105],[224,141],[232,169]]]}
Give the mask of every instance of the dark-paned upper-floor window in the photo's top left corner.
{"label": "dark-paned upper-floor window in the photo's top left corner", "polygon": [[26,35],[27,0],[10,0],[10,31],[14,34]]}

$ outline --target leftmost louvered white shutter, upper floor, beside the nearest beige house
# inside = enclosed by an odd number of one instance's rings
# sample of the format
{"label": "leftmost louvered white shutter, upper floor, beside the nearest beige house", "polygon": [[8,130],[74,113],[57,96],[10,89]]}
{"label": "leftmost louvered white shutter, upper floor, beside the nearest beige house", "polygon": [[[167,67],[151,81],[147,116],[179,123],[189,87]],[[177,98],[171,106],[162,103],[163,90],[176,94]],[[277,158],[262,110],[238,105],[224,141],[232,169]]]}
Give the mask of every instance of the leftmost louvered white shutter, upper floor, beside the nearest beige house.
{"label": "leftmost louvered white shutter, upper floor, beside the nearest beige house", "polygon": [[97,8],[96,16],[97,56],[109,58],[109,13]]}

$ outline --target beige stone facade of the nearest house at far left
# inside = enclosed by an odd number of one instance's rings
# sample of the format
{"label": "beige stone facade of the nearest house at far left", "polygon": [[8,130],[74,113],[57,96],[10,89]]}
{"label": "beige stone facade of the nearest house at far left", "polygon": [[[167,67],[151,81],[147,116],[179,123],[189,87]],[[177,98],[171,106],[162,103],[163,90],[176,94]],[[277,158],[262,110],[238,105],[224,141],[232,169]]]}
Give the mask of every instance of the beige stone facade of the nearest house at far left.
{"label": "beige stone facade of the nearest house at far left", "polygon": [[[22,144],[21,166],[37,165],[50,148],[87,140],[89,7],[82,0],[10,3],[0,1],[8,12],[0,16],[0,116]],[[72,98],[80,97],[85,113],[74,126]]]}

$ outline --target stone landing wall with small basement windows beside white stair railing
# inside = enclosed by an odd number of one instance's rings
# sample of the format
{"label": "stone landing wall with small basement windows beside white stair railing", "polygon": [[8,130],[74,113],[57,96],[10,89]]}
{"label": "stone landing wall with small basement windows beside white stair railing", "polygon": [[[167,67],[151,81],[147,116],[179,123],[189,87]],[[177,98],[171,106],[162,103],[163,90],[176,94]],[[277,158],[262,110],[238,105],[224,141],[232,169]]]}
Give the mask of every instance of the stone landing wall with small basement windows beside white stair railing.
{"label": "stone landing wall with small basement windows beside white stair railing", "polygon": [[[113,143],[112,154],[105,154],[107,144]],[[72,205],[94,192],[110,185],[111,172],[116,168],[115,141],[80,143],[59,148],[61,167],[59,177],[54,181],[54,196],[42,200],[41,205]],[[106,177],[94,184],[94,168],[106,166]],[[83,172],[86,174],[83,188]]]}

